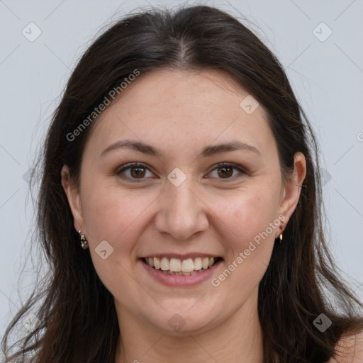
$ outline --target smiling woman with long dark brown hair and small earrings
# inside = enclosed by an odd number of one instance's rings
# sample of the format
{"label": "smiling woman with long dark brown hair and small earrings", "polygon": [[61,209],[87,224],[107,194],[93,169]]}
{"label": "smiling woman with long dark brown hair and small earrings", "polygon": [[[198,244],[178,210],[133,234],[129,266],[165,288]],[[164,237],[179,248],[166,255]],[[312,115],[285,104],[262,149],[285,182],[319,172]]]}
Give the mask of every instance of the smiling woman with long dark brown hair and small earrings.
{"label": "smiling woman with long dark brown hair and small earrings", "polygon": [[50,275],[9,359],[363,361],[316,152],[278,60],[235,18],[193,6],[118,21],[50,125],[38,205]]}

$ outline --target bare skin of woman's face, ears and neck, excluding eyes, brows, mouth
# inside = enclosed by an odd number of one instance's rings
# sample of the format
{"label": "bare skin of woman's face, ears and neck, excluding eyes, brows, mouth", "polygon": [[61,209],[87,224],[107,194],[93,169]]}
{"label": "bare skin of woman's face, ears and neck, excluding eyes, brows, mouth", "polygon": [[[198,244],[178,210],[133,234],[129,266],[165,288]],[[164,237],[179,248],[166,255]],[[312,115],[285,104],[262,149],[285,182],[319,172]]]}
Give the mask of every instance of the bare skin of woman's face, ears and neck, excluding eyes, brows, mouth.
{"label": "bare skin of woman's face, ears and neck, excluding eyes, brows, mouth", "polygon": [[[269,223],[281,215],[288,222],[306,176],[305,158],[297,153],[291,179],[281,177],[263,106],[251,114],[240,107],[247,95],[221,71],[150,72],[95,121],[79,189],[67,166],[62,168],[74,228],[89,241],[96,272],[115,299],[122,337],[116,363],[262,362],[258,284],[283,225],[217,287],[209,279],[190,287],[164,286],[139,261],[163,252],[209,253],[223,257],[213,275],[218,277]],[[100,156],[126,139],[164,154],[119,148]],[[259,155],[235,150],[198,157],[203,147],[232,140],[252,145]],[[144,179],[135,177],[135,169],[116,174],[129,162],[146,164]],[[220,162],[240,165],[246,173],[232,169],[224,177]],[[180,186],[167,179],[175,167],[186,176]],[[102,240],[113,247],[106,259],[95,251]],[[168,325],[176,313],[185,322],[179,331]]]}

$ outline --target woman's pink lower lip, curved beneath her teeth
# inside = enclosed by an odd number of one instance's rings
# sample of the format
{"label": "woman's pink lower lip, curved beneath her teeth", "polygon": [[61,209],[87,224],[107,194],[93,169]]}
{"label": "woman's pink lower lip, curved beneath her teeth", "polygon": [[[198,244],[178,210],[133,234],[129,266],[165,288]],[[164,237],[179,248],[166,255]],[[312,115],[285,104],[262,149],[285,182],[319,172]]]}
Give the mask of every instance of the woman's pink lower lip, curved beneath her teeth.
{"label": "woman's pink lower lip, curved beneath her teeth", "polygon": [[199,272],[194,275],[171,275],[162,272],[160,269],[154,269],[150,267],[148,264],[145,264],[142,259],[140,259],[140,263],[149,272],[152,277],[160,281],[162,284],[167,286],[194,286],[196,284],[200,284],[203,281],[211,279],[213,274],[218,269],[219,265],[223,262],[223,259],[213,264],[213,266],[209,269],[204,270],[203,272]]}

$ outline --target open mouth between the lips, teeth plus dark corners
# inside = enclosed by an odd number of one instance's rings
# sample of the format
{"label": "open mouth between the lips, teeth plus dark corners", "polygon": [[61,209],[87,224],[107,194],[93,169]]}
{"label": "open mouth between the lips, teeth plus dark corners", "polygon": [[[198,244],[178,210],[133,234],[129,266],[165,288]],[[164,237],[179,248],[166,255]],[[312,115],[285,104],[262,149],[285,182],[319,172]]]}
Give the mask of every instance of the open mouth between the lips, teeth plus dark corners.
{"label": "open mouth between the lips, teeth plus dark corners", "polygon": [[190,276],[211,269],[222,257],[194,257],[187,259],[168,257],[143,257],[141,261],[152,269],[169,275]]}

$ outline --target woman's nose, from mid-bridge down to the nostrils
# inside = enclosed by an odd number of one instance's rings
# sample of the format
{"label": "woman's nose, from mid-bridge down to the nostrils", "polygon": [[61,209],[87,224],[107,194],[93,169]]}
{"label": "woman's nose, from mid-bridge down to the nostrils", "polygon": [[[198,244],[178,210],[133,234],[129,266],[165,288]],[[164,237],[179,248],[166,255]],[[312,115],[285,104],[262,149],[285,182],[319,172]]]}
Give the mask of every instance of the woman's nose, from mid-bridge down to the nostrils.
{"label": "woman's nose, from mid-bridge down to the nostrils", "polygon": [[168,233],[175,240],[190,240],[194,234],[208,228],[208,206],[193,185],[191,177],[179,186],[167,181],[159,199],[155,229]]}

